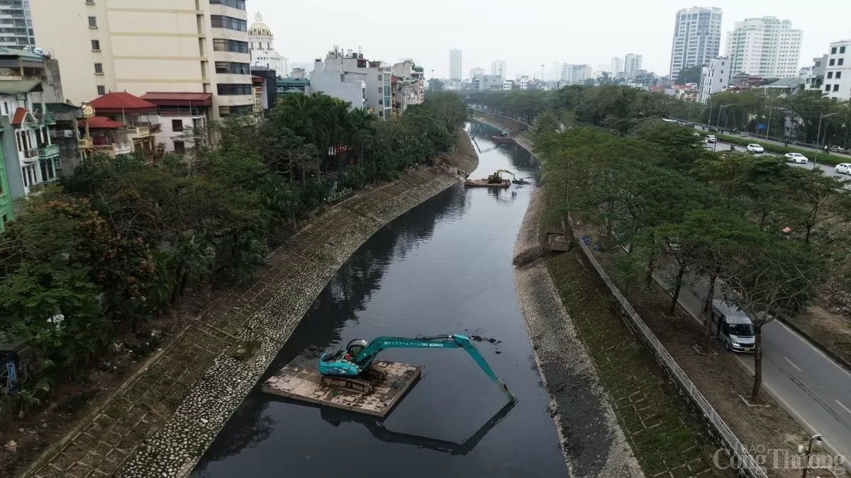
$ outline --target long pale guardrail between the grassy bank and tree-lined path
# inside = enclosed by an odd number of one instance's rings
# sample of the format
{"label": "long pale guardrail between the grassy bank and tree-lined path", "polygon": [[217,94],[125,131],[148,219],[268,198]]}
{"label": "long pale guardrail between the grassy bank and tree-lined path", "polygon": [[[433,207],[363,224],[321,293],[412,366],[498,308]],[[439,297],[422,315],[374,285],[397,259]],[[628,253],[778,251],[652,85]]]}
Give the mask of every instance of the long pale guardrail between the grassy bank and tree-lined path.
{"label": "long pale guardrail between the grassy bank and tree-lined path", "polygon": [[641,332],[644,343],[654,351],[658,361],[660,361],[660,363],[667,369],[668,373],[677,379],[680,387],[688,393],[688,398],[691,399],[694,405],[700,408],[700,412],[703,413],[712,428],[721,436],[721,439],[727,446],[728,451],[740,459],[742,469],[749,473],[753,478],[768,478],[765,470],[759,466],[756,458],[754,458],[748,451],[748,447],[745,447],[745,445],[739,441],[739,438],[734,435],[733,431],[730,430],[727,424],[724,423],[724,420],[720,415],[718,415],[715,408],[713,408],[703,394],[700,393],[700,390],[698,390],[694,383],[692,383],[691,379],[688,378],[688,375],[686,375],[683,369],[677,365],[677,361],[674,360],[671,354],[665,350],[665,345],[662,345],[659,339],[656,339],[654,333],[649,327],[647,327],[647,324],[644,323],[641,317],[638,316],[629,301],[626,300],[622,293],[620,293],[620,290],[614,285],[614,282],[609,279],[608,274],[605,270],[603,270],[603,266],[597,262],[597,259],[594,258],[594,254],[591,253],[588,246],[586,246],[585,242],[582,241],[579,231],[573,227],[573,219],[570,218],[569,214],[568,221],[570,222],[570,229],[573,232],[576,242],[580,245],[580,248],[582,248],[582,252],[585,253],[585,257],[588,259],[588,262],[590,262],[594,269],[597,270],[597,274],[600,276],[600,279],[603,280],[603,283],[606,284],[609,292],[612,293],[614,299],[616,299],[618,304],[620,304],[620,309],[623,310],[626,316],[630,318],[636,329]]}

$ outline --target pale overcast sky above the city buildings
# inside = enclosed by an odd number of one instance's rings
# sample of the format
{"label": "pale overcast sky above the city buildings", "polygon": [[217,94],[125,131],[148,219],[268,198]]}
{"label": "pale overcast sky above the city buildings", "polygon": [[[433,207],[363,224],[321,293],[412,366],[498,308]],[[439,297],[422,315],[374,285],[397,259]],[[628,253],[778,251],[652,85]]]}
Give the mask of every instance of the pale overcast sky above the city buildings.
{"label": "pale overcast sky above the city buildings", "polygon": [[[829,7],[828,7],[829,5]],[[257,10],[275,34],[275,48],[289,64],[310,63],[334,45],[357,51],[368,60],[395,63],[411,58],[426,77],[448,77],[449,50],[463,52],[463,77],[480,66],[490,73],[494,60],[505,60],[508,76],[540,77],[554,62],[588,64],[594,70],[613,56],[643,55],[643,68],[667,74],[678,9],[694,3],[658,0],[573,2],[538,0],[323,0],[281,2],[248,0],[248,22]],[[827,53],[829,43],[851,38],[851,1],[808,4],[801,0],[757,3],[715,0],[701,7],[722,9],[722,45],[727,31],[745,18],[775,16],[803,31],[800,66]],[[312,68],[310,68],[312,69]]]}

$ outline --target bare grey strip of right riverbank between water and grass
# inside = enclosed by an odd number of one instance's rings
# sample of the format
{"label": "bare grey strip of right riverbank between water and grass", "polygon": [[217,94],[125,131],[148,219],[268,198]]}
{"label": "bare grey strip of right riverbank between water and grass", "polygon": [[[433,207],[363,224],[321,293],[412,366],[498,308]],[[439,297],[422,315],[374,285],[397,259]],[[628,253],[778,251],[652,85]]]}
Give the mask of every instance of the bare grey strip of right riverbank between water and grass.
{"label": "bare grey strip of right riverbank between water and grass", "polygon": [[534,192],[517,234],[514,283],[564,458],[575,476],[643,476],[591,356],[541,260],[544,187]]}

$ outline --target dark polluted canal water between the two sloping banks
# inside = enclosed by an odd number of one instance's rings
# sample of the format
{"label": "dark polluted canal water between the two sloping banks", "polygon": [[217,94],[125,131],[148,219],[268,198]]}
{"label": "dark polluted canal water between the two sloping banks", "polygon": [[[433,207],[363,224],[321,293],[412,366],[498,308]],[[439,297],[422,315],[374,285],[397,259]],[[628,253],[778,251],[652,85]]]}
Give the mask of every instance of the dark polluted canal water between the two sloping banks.
{"label": "dark polluted canal water between the two sloping banks", "polygon": [[[477,123],[472,124],[476,130]],[[517,145],[477,134],[478,179],[508,169],[529,185],[459,185],[386,225],[319,295],[260,382],[311,345],[380,335],[462,333],[517,395],[505,396],[463,350],[386,350],[422,378],[384,420],[260,393],[248,395],[192,476],[566,476],[511,270],[536,164]],[[484,430],[483,430],[483,427]]]}

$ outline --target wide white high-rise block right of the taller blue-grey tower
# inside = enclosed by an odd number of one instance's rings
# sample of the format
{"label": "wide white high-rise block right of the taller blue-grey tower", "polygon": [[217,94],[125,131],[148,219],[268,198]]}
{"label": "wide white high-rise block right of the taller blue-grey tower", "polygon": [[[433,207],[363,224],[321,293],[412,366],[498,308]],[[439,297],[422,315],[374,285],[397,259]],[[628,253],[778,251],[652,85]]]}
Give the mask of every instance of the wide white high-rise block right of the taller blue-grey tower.
{"label": "wide white high-rise block right of the taller blue-grey tower", "polygon": [[797,77],[802,31],[793,30],[791,20],[777,17],[737,21],[727,33],[727,56],[734,74],[769,78]]}

